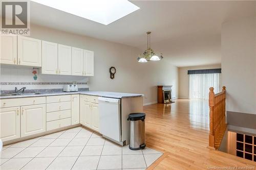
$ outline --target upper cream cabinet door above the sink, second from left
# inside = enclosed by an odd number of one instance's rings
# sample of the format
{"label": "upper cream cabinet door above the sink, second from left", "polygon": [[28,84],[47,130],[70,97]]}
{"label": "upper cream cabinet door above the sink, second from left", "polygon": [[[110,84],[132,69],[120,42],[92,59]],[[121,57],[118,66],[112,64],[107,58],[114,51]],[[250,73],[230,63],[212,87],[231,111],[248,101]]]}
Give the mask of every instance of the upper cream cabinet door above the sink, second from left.
{"label": "upper cream cabinet door above the sink, second from left", "polygon": [[41,67],[41,40],[18,36],[18,64]]}

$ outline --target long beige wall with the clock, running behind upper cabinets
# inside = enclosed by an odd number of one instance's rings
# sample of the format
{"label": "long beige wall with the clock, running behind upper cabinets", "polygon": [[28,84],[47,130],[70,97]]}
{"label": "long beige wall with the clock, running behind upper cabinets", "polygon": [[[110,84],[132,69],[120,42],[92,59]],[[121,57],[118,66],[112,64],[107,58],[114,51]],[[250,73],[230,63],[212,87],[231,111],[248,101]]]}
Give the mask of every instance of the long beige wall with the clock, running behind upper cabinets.
{"label": "long beige wall with the clock, running behind upper cabinets", "polygon": [[[36,25],[31,25],[31,37],[94,51],[94,77],[89,78],[90,90],[143,93],[144,104],[149,104],[157,102],[157,85],[173,85],[173,96],[177,96],[178,68],[170,64],[167,56],[159,62],[138,63],[138,54],[142,53],[138,48]],[[113,80],[109,74],[111,66],[117,70]],[[20,76],[23,75],[19,75],[23,80]],[[48,76],[48,79],[57,81],[62,78]],[[77,78],[70,76],[68,81],[72,79]]]}

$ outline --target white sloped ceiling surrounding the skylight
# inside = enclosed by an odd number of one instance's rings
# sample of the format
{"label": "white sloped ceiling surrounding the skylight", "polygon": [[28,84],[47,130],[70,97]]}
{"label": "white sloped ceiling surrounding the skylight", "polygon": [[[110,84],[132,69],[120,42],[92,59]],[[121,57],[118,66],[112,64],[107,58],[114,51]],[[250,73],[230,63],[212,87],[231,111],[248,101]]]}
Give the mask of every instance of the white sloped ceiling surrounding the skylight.
{"label": "white sloped ceiling surrounding the skylight", "polygon": [[142,50],[152,31],[154,50],[176,66],[193,66],[220,63],[221,23],[255,11],[255,1],[131,2],[140,9],[107,26],[31,2],[31,22]]}

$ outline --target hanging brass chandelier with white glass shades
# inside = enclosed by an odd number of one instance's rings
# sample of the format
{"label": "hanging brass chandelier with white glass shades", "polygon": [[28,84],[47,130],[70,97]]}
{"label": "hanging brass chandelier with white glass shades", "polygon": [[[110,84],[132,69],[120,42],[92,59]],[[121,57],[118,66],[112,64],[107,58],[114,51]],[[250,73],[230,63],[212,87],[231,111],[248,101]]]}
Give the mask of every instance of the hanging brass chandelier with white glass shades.
{"label": "hanging brass chandelier with white glass shades", "polygon": [[163,54],[157,55],[154,50],[150,47],[150,34],[151,32],[146,32],[147,34],[147,50],[138,57],[138,62],[145,63],[147,61],[159,61],[163,59]]}

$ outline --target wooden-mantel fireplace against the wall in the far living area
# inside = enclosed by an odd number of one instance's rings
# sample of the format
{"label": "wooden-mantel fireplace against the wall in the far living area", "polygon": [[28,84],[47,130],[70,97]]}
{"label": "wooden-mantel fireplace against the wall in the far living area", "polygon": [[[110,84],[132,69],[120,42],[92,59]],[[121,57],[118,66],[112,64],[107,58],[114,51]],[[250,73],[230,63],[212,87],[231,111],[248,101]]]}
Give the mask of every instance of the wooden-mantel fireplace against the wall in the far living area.
{"label": "wooden-mantel fireplace against the wall in the far living area", "polygon": [[158,86],[158,103],[172,102],[172,86]]}

